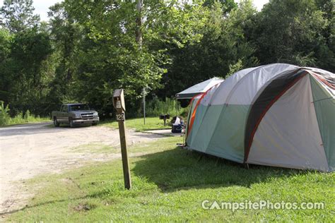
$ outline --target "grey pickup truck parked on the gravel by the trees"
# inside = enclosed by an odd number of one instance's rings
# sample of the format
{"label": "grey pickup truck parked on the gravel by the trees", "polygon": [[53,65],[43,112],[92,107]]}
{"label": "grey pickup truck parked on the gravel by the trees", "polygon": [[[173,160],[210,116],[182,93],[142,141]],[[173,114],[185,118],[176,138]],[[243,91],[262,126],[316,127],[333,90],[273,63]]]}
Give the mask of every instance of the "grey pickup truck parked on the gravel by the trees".
{"label": "grey pickup truck parked on the gravel by the trees", "polygon": [[51,117],[56,127],[60,123],[67,123],[74,127],[83,123],[96,125],[99,122],[98,112],[91,110],[88,104],[81,103],[62,104],[60,111],[52,111]]}

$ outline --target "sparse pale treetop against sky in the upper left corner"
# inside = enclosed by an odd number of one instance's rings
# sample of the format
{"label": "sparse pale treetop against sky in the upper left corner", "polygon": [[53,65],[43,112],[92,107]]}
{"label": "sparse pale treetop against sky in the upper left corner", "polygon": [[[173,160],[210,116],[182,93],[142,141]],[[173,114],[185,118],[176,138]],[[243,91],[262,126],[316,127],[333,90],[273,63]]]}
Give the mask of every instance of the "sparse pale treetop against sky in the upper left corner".
{"label": "sparse pale treetop against sky in the upper left corner", "polygon": [[14,33],[33,28],[40,21],[34,10],[33,0],[4,0],[0,23]]}

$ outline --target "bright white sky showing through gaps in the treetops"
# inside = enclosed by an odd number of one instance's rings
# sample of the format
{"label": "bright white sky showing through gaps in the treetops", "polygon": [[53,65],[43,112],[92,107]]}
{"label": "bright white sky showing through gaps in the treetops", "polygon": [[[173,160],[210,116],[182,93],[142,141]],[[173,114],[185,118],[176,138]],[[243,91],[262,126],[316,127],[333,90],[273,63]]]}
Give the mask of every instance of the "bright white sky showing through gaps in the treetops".
{"label": "bright white sky showing through gaps in the treetops", "polygon": [[[57,2],[61,2],[62,0],[33,0],[33,6],[35,8],[35,13],[40,14],[41,20],[48,20],[47,12],[49,11],[49,7],[53,6]],[[235,0],[239,1],[239,0]],[[0,0],[0,6],[2,6],[4,0]],[[254,0],[254,5],[260,11],[264,4],[268,3],[269,0]]]}

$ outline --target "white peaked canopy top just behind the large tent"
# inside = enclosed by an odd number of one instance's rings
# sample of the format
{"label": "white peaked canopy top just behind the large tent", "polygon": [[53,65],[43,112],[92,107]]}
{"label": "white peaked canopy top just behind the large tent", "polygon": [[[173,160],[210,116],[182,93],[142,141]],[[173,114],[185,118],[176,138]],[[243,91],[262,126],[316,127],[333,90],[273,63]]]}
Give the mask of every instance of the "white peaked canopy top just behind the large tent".
{"label": "white peaked canopy top just behind the large tent", "polygon": [[223,82],[221,78],[211,78],[205,80],[199,84],[193,85],[191,88],[187,88],[182,92],[177,93],[176,98],[178,99],[190,99],[195,95],[206,92],[208,89],[212,88],[214,85]]}

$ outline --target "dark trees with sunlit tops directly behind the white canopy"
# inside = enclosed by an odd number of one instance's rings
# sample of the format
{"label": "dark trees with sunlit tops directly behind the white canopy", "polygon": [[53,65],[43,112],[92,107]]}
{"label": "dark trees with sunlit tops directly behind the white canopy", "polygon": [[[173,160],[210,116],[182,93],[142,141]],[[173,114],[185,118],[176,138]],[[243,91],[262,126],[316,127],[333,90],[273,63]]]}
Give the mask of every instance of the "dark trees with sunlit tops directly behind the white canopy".
{"label": "dark trees with sunlit tops directly behind the white canopy", "polygon": [[223,16],[223,6],[216,1],[208,11],[206,26],[198,32],[203,35],[197,44],[182,49],[166,46],[172,52],[172,64],[163,76],[165,88],[157,92],[160,97],[171,97],[177,92],[213,77],[225,77],[230,66],[242,61],[245,68],[257,66],[254,47],[245,39],[244,25],[257,12],[251,1],[242,1],[240,7]]}

